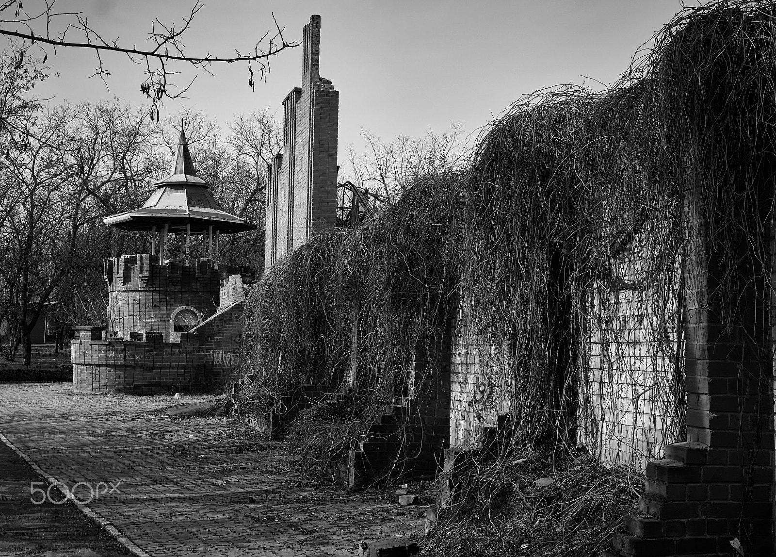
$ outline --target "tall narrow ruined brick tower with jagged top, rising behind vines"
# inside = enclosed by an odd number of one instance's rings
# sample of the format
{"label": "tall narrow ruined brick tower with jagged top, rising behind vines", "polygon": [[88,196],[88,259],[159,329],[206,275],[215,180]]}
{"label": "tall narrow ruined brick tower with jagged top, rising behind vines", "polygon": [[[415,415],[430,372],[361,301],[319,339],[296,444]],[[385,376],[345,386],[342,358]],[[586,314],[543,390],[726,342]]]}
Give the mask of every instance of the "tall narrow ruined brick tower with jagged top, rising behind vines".
{"label": "tall narrow ruined brick tower with jagged top, rising behind vines", "polygon": [[283,155],[268,171],[265,272],[336,223],[339,93],[320,78],[320,16],[303,29],[302,86],[283,101]]}

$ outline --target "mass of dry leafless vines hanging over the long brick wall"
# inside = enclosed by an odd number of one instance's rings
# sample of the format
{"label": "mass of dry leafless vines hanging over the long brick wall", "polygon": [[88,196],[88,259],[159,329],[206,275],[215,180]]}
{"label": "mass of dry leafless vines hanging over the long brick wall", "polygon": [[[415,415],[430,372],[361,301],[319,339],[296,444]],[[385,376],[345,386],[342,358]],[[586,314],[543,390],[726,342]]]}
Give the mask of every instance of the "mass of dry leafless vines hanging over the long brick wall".
{"label": "mass of dry leafless vines hanging over the long brick wall", "polygon": [[[368,423],[405,396],[417,350],[457,311],[481,348],[486,410],[506,419],[492,459],[463,475],[456,519],[487,532],[483,555],[514,547],[530,524],[519,505],[495,509],[525,489],[511,464],[525,458],[571,486],[539,517],[546,543],[532,555],[594,554],[632,502],[636,465],[684,430],[681,313],[701,285],[682,269],[699,246],[721,254],[719,323],[743,331],[760,389],[772,387],[771,348],[747,329],[746,304],[770,314],[761,230],[776,168],[774,60],[776,2],[719,0],[678,14],[608,91],[519,100],[464,171],[417,179],[358,229],[321,234],[272,268],[246,305],[243,366],[264,389],[246,400],[271,406],[310,378],[328,392],[347,382],[359,404],[319,421]],[[622,427],[639,404],[643,425]],[[764,427],[768,409],[758,412]],[[302,454],[328,446],[334,458],[341,446],[305,419]],[[584,482],[566,475],[578,441],[606,457],[617,438],[628,467],[583,461]],[[549,528],[561,516],[575,526]],[[461,554],[438,542],[439,555]]]}

